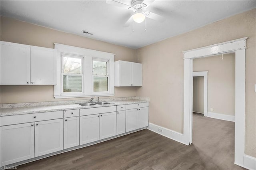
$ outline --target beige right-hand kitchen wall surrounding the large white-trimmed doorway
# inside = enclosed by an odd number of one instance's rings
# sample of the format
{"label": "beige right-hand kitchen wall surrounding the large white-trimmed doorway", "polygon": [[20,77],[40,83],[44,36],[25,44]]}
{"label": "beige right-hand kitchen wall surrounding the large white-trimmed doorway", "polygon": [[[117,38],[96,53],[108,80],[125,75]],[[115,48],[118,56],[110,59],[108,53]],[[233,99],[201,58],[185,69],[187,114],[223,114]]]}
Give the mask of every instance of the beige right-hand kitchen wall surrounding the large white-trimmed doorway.
{"label": "beige right-hand kitchen wall surrounding the large white-trimmed doorway", "polygon": [[[256,157],[256,9],[137,49],[143,69],[138,96],[150,97],[150,123],[183,132],[184,63],[181,51],[246,40],[246,151]],[[152,81],[154,80],[154,81]]]}

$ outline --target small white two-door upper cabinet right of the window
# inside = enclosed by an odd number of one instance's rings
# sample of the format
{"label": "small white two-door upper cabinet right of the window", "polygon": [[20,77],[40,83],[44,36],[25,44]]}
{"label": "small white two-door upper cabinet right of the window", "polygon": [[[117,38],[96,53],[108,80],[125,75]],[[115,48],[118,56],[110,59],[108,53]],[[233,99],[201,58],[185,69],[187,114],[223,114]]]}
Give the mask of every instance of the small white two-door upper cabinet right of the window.
{"label": "small white two-door upper cabinet right of the window", "polygon": [[142,64],[115,61],[115,86],[142,86]]}

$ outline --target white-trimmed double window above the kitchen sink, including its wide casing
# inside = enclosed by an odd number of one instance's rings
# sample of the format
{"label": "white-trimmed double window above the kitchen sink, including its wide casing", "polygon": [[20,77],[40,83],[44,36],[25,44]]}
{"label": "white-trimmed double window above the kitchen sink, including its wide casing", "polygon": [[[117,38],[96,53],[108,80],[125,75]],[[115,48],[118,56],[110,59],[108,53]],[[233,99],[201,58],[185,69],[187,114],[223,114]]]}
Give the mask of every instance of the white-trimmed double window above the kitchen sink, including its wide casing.
{"label": "white-trimmed double window above the kitchen sink, including its wide casing", "polygon": [[54,98],[114,95],[114,54],[54,43],[57,84]]}

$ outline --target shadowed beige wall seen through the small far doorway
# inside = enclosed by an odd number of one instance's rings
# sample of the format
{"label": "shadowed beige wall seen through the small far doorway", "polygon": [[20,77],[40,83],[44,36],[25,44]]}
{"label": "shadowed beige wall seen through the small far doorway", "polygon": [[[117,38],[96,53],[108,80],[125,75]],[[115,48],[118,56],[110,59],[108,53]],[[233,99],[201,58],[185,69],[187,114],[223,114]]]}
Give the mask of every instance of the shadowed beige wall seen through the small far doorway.
{"label": "shadowed beige wall seen through the small far doorway", "polygon": [[204,76],[193,77],[193,112],[204,113]]}

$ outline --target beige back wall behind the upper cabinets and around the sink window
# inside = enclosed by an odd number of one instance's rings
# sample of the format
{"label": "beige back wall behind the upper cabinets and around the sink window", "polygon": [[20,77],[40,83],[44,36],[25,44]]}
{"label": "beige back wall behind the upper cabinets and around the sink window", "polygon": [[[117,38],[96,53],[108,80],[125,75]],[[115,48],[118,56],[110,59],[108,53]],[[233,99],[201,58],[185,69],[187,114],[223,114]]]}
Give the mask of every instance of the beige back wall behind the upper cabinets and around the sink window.
{"label": "beige back wall behind the upper cabinets and around the sink window", "polygon": [[[136,61],[136,50],[1,16],[1,41],[54,48],[55,43],[115,53],[115,61]],[[137,87],[116,87],[114,97],[136,96]],[[1,103],[75,100],[54,99],[53,86],[1,86]],[[88,98],[77,98],[88,99]]]}

